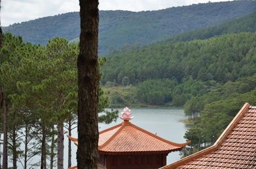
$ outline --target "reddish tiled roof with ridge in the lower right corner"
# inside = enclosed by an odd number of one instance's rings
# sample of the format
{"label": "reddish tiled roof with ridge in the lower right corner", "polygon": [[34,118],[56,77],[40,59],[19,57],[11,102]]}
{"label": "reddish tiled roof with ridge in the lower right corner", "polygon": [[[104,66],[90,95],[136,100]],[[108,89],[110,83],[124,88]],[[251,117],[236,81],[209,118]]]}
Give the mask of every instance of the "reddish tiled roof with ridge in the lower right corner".
{"label": "reddish tiled roof with ridge in the lower right corner", "polygon": [[171,168],[256,168],[256,107],[244,104],[214,145],[161,169]]}

